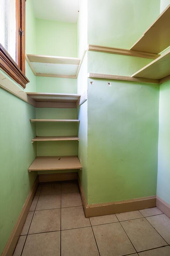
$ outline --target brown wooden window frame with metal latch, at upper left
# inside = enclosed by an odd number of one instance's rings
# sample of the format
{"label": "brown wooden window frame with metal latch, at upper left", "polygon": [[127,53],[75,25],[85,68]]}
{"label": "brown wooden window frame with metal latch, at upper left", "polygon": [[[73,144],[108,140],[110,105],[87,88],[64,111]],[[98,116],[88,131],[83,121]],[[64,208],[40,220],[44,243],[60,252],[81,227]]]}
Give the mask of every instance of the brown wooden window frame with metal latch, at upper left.
{"label": "brown wooden window frame with metal latch, at upper left", "polygon": [[0,68],[23,88],[29,83],[25,76],[25,12],[26,0],[16,0],[16,62],[0,44]]}

